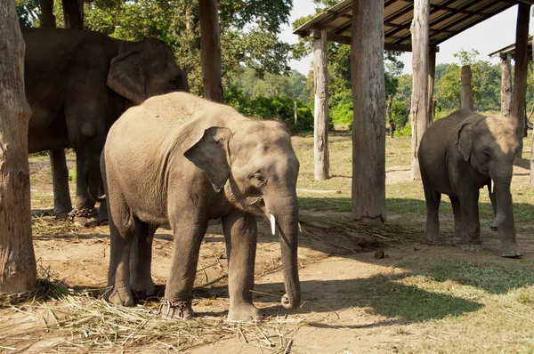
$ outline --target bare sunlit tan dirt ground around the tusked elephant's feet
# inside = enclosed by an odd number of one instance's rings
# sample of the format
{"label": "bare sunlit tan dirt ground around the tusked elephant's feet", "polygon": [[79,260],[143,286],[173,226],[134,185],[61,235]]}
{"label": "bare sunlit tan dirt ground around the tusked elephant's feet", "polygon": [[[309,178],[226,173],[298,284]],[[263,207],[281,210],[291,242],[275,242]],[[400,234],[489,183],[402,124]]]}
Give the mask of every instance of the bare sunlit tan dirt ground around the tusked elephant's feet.
{"label": "bare sunlit tan dirt ground around the tusked elephant's feet", "polygon": [[[69,162],[72,164],[72,161]],[[36,215],[41,210],[52,208],[52,186],[45,173],[49,168],[46,159],[32,162],[32,209]],[[516,166],[514,182],[526,183],[526,166]],[[387,170],[387,183],[409,181],[409,166],[393,166]],[[71,186],[71,187],[74,187]],[[361,248],[354,239],[339,229],[329,228],[324,217],[344,218],[336,213],[312,213],[303,211],[299,247],[300,278],[303,305],[294,311],[283,310],[279,299],[284,294],[281,272],[279,240],[270,234],[266,221],[260,221],[255,268],[256,306],[268,315],[267,321],[279,321],[284,326],[286,342],[282,345],[277,336],[246,334],[224,336],[221,340],[198,344],[191,348],[194,353],[357,353],[410,351],[420,342],[439,342],[448,334],[430,336],[425,332],[423,320],[407,319],[395,313],[373,307],[368,297],[361,294],[361,286],[370,286],[369,279],[376,282],[392,282],[413,272],[412,261],[425,262],[436,257],[470,261],[492,261],[498,254],[498,239],[495,234],[483,237],[485,252],[463,253],[455,247],[438,247],[419,243],[389,243],[389,245]],[[398,220],[401,215],[390,215]],[[55,221],[52,217],[36,218],[34,230],[35,251],[39,268],[51,270],[57,278],[76,288],[102,288],[106,286],[109,264],[109,229],[73,229],[65,226],[65,232],[47,234],[46,229]],[[41,231],[40,229],[44,229]],[[484,231],[486,232],[486,231]],[[153,250],[152,274],[158,291],[163,291],[171,270],[173,237],[169,229],[158,229]],[[524,260],[534,260],[534,240],[530,230],[518,233],[518,243],[525,251]],[[376,249],[384,250],[385,257],[376,259]],[[498,258],[498,257],[497,257]],[[515,260],[509,260],[513,262]],[[227,264],[220,221],[213,221],[202,244],[198,262],[193,309],[198,318],[225,318],[229,310],[226,279]],[[411,274],[411,273],[410,273]],[[382,295],[376,295],[379,297]],[[371,305],[369,305],[371,303]],[[15,310],[13,310],[15,309]],[[0,310],[0,338],[7,332],[20,332],[32,326],[41,326],[42,314],[7,307]],[[281,318],[281,319],[280,319]],[[274,328],[274,327],[273,327]],[[275,331],[273,329],[272,331]],[[265,338],[263,338],[265,336]],[[269,339],[267,339],[267,337]],[[41,338],[25,342],[17,348],[17,342],[0,340],[0,352],[40,351],[53,352],[61,341],[68,338]],[[162,342],[165,342],[162,340]],[[168,347],[168,346],[167,346]],[[164,344],[146,343],[130,350],[138,352],[165,352]],[[284,347],[284,348],[281,348]],[[281,350],[280,350],[281,348]],[[99,352],[88,348],[79,351]],[[126,348],[126,350],[128,350]],[[120,351],[120,350],[119,350]],[[276,350],[275,350],[276,351]],[[476,351],[476,350],[475,350]]]}

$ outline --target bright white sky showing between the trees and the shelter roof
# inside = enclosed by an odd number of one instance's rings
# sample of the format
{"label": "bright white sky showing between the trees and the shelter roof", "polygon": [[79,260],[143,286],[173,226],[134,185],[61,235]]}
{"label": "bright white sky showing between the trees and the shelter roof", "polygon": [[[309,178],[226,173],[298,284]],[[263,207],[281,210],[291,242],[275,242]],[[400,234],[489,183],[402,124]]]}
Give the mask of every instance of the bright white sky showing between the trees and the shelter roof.
{"label": "bright white sky showing between the trees and the shelter roof", "polygon": [[[312,13],[315,13],[315,5],[312,0],[294,0],[293,11],[289,19],[290,24],[285,25],[281,29],[279,38],[284,42],[295,44],[298,36],[292,33],[291,23],[299,17]],[[457,36],[453,36],[439,45],[440,52],[436,54],[436,64],[457,61],[453,54],[459,52],[461,49],[468,52],[476,49],[480,52],[480,60],[490,60],[492,63],[498,63],[497,58],[490,59],[488,54],[514,43],[516,18],[517,6],[513,6],[505,12],[493,16],[489,20],[485,20],[472,28],[466,29]],[[529,33],[533,33],[532,28],[534,28],[534,19],[530,20]],[[411,52],[405,52],[401,55],[401,60],[404,62],[404,73],[407,74],[411,74],[412,71],[411,55]],[[307,75],[311,65],[312,54],[303,60],[290,61],[291,68],[298,70],[304,75]]]}

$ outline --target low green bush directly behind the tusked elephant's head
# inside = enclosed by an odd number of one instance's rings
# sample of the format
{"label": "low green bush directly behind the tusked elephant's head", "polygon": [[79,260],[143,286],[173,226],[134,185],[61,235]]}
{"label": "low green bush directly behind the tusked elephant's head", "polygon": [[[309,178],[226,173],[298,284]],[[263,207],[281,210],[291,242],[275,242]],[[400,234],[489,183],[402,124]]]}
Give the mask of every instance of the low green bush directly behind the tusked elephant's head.
{"label": "low green bush directly behind the tusked elephant's head", "polygon": [[300,101],[297,101],[297,122],[295,125],[295,101],[288,97],[248,97],[238,87],[230,86],[224,92],[224,101],[244,116],[283,122],[291,133],[313,129],[312,109]]}

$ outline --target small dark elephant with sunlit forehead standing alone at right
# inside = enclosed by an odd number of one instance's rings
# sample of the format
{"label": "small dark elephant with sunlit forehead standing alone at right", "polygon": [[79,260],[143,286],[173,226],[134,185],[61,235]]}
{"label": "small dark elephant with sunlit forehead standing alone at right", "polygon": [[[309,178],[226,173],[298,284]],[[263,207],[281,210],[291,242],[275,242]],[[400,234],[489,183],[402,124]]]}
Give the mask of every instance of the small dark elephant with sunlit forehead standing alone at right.
{"label": "small dark elephant with sunlit forehead standing alone at right", "polygon": [[455,243],[466,251],[480,251],[479,189],[488,186],[495,212],[492,228],[498,229],[501,255],[523,254],[515,242],[510,194],[518,136],[512,118],[485,117],[467,109],[436,121],[426,130],[419,147],[419,166],[428,241],[440,243],[438,209],[441,194],[447,194],[454,212]]}

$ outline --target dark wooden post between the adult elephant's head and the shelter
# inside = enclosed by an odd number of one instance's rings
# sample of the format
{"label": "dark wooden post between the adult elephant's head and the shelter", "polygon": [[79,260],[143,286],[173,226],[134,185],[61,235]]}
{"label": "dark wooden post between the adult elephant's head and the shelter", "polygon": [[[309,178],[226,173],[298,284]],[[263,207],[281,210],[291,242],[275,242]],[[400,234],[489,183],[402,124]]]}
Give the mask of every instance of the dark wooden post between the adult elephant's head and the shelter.
{"label": "dark wooden post between the adult elephant's head and the shelter", "polygon": [[223,102],[221,76],[221,34],[217,0],[199,0],[200,4],[200,60],[206,99]]}

